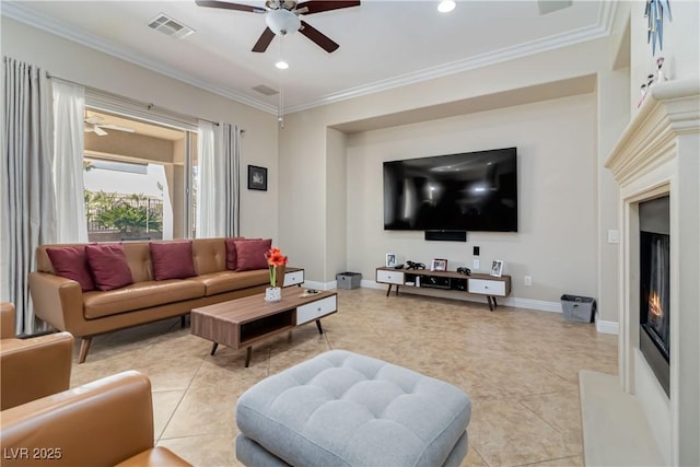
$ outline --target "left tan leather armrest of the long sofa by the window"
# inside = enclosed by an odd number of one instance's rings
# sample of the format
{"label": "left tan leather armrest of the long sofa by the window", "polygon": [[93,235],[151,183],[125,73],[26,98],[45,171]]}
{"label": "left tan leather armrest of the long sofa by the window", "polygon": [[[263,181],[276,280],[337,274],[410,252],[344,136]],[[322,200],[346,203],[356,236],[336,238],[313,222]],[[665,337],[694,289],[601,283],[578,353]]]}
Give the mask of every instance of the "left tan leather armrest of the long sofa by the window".
{"label": "left tan leather armrest of the long sofa by the window", "polygon": [[74,280],[48,272],[30,272],[34,314],[59,330],[82,337],[83,292]]}

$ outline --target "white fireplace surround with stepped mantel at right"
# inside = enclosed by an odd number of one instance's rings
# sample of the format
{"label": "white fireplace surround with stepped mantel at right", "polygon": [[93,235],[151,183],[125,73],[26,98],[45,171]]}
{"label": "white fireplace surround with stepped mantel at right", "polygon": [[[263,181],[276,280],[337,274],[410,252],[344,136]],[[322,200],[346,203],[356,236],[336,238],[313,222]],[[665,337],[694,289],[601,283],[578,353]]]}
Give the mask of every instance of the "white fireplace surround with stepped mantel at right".
{"label": "white fireplace surround with stepped mantel at right", "polygon": [[[666,465],[700,465],[700,81],[656,84],[606,162],[620,185],[619,369]],[[670,200],[670,392],[639,350],[639,203]]]}

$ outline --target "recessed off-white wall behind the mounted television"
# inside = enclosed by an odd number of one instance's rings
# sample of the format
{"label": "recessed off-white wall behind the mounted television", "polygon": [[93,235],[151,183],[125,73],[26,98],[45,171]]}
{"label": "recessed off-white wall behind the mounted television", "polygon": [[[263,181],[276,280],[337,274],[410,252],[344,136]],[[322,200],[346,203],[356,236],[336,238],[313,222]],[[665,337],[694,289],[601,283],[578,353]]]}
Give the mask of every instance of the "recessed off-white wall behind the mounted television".
{"label": "recessed off-white wall behind the mounted television", "polygon": [[[374,279],[390,252],[401,261],[446,258],[451,270],[474,269],[472,246],[480,246],[479,271],[505,261],[515,297],[596,296],[595,132],[595,95],[587,94],[350,136],[348,268]],[[508,147],[518,153],[517,233],[469,232],[458,243],[384,231],[384,161]]]}

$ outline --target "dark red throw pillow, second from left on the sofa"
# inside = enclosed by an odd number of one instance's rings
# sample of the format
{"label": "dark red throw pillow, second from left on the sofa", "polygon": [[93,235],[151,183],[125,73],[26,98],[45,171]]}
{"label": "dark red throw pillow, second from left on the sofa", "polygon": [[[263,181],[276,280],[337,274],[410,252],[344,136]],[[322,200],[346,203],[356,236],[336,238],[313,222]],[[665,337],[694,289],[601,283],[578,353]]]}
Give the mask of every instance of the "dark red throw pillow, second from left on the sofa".
{"label": "dark red throw pillow, second from left on the sofa", "polygon": [[133,283],[127,255],[120,244],[85,246],[88,264],[100,290],[114,290]]}

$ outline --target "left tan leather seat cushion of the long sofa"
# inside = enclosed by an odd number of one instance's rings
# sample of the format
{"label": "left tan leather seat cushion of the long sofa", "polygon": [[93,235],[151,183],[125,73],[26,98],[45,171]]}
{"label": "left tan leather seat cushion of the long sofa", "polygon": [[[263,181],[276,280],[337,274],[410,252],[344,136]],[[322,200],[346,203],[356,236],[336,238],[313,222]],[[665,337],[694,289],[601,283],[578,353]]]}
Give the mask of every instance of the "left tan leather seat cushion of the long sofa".
{"label": "left tan leather seat cushion of the long sofa", "polygon": [[202,283],[171,279],[137,282],[107,292],[88,292],[83,295],[83,306],[85,318],[95,319],[201,296],[205,296]]}

